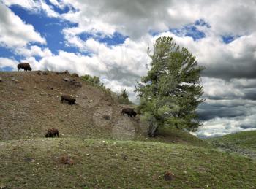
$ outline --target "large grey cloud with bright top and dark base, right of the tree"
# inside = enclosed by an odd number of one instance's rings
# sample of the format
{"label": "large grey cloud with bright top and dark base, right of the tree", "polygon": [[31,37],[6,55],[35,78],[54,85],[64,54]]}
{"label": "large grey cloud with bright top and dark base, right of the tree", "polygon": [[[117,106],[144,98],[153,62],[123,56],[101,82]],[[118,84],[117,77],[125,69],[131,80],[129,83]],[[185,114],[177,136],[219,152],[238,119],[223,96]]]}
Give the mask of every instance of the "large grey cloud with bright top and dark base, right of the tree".
{"label": "large grey cloud with bright top and dark base, right of the tree", "polygon": [[[256,78],[256,34],[241,36],[210,58],[203,75],[231,80]],[[202,62],[203,63],[203,62]]]}

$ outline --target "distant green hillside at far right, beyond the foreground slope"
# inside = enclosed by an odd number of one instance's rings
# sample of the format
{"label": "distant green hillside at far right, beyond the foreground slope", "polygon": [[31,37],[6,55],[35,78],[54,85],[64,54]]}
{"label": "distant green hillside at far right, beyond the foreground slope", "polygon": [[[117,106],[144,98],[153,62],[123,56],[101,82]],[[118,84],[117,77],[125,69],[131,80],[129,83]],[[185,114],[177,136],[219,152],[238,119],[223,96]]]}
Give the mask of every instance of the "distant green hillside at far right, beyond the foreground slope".
{"label": "distant green hillside at far right, beyond the foreground slope", "polygon": [[256,158],[256,131],[243,131],[236,134],[227,134],[206,141],[222,148],[225,151],[240,153]]}

